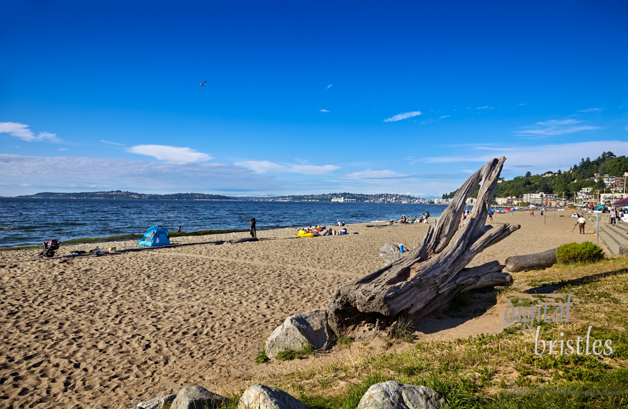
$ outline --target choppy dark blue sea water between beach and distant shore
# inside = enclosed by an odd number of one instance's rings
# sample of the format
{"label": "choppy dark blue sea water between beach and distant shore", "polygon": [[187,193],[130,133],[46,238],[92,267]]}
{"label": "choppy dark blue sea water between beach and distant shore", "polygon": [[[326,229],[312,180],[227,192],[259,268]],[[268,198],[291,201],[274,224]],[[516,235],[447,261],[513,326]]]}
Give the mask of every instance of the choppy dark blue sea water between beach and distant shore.
{"label": "choppy dark blue sea water between beach and distant shore", "polygon": [[[237,200],[114,200],[0,198],[0,249],[142,234],[151,225],[170,232],[249,228],[258,230],[330,225],[336,220],[362,223],[418,216],[439,216],[447,206],[402,203],[330,203]],[[80,242],[80,240],[78,241]],[[75,242],[78,244],[78,242]]]}

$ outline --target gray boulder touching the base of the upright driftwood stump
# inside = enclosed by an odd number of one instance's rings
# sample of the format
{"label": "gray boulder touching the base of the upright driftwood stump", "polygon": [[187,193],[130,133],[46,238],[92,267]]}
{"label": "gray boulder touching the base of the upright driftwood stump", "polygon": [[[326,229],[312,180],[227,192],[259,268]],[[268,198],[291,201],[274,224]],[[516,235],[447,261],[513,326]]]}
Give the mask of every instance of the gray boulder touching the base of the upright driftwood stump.
{"label": "gray boulder touching the base of the upright driftwood stump", "polygon": [[266,340],[266,355],[274,359],[281,351],[302,350],[308,344],[316,350],[327,349],[332,334],[332,328],[327,322],[327,310],[291,315]]}

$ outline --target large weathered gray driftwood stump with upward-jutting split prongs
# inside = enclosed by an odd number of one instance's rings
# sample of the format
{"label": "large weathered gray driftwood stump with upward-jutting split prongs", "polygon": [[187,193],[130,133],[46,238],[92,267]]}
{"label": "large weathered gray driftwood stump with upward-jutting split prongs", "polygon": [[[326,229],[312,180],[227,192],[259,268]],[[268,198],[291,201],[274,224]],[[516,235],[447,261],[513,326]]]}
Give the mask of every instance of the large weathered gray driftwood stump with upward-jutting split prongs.
{"label": "large weathered gray driftwood stump with upward-jutting split prongs", "polygon": [[[359,328],[395,329],[447,308],[463,289],[504,286],[512,277],[497,261],[465,268],[482,250],[520,226],[485,225],[505,157],[490,160],[462,185],[423,243],[392,264],[342,286],[329,302],[329,322],[339,333]],[[471,214],[461,221],[466,199],[482,182]]]}

